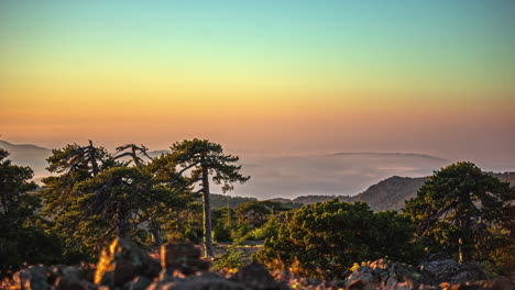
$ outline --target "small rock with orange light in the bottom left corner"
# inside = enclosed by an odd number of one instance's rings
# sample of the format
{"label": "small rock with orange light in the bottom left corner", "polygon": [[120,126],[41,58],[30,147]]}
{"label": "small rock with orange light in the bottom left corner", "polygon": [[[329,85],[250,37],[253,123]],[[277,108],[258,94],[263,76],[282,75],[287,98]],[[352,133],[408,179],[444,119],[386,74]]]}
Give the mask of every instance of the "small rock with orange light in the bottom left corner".
{"label": "small rock with orange light in the bottom left corner", "polygon": [[20,290],[50,290],[48,278],[52,272],[43,265],[29,266],[13,276],[15,286]]}

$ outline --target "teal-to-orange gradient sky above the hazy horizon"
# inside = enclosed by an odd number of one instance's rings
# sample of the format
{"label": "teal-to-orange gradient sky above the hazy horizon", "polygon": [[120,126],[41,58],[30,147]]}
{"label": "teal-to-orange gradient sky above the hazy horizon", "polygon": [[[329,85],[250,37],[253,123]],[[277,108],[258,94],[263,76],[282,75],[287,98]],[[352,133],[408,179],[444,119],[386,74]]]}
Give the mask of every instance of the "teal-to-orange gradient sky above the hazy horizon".
{"label": "teal-to-orange gradient sky above the hazy horizon", "polygon": [[0,135],[515,168],[515,1],[0,1]]}

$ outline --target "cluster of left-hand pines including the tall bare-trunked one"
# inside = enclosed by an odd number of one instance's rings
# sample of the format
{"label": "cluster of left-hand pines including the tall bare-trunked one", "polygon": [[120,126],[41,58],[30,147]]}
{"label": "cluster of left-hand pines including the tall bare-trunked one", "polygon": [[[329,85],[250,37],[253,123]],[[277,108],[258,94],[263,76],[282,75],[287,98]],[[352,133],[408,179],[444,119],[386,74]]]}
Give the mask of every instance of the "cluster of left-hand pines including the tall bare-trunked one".
{"label": "cluster of left-hand pines including the tall bare-trunked one", "polygon": [[[226,191],[248,177],[232,165],[238,157],[224,155],[219,144],[193,140],[175,143],[171,149],[154,159],[144,146],[134,144],[118,147],[116,154],[92,142],[53,150],[48,170],[56,176],[43,180],[41,197],[43,213],[55,221],[51,230],[65,241],[66,256],[92,258],[103,241],[114,236],[158,246],[163,233],[164,238],[193,242],[204,236],[205,253],[212,256],[209,179]],[[194,202],[199,193],[202,225]]]}

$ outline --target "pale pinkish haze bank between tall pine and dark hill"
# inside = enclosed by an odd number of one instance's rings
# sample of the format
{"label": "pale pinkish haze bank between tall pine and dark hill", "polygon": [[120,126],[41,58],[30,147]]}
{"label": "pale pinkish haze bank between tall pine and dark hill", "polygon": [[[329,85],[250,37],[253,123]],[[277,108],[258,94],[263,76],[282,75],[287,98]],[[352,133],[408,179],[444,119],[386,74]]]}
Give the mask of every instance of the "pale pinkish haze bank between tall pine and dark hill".
{"label": "pale pinkish haze bank between tall pine and dark hill", "polygon": [[[244,157],[244,156],[243,156]],[[243,158],[252,178],[235,194],[270,198],[353,196],[391,176],[429,176],[451,161],[418,154],[339,153],[331,155]]]}

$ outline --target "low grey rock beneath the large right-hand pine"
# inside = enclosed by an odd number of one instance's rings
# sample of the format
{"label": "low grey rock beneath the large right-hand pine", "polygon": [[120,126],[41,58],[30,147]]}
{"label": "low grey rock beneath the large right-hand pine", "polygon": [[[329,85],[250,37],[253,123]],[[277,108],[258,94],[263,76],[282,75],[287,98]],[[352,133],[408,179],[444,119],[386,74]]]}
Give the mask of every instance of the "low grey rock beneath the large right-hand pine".
{"label": "low grey rock beneath the large right-hand pine", "polygon": [[460,265],[453,259],[434,260],[425,261],[418,268],[429,275],[435,285],[442,282],[458,285],[486,279],[484,272],[473,261]]}

